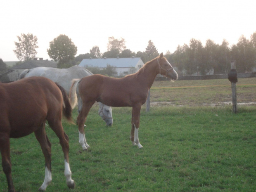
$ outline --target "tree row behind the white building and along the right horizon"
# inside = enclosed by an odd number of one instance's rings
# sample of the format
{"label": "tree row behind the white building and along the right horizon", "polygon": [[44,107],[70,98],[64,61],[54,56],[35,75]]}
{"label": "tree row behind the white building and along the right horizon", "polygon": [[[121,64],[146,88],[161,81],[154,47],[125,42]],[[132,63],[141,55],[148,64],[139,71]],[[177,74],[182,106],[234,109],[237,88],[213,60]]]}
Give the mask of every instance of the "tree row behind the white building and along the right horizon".
{"label": "tree row behind the white building and along the right horizon", "polygon": [[[90,53],[81,54],[75,57],[76,62],[82,59],[91,58],[115,58],[115,57],[140,57],[144,63],[159,55],[154,43],[149,40],[144,52],[132,52],[126,49],[125,40],[109,38],[108,51],[100,53],[99,47],[92,47]],[[237,44],[229,46],[227,40],[221,45],[207,39],[205,46],[200,40],[192,38],[189,45],[178,45],[175,52],[169,51],[164,55],[168,61],[181,73],[180,75],[192,74],[227,74],[230,71],[230,62],[236,61],[236,68],[239,73],[250,72],[256,67],[256,32],[250,39],[243,35],[238,39]]]}

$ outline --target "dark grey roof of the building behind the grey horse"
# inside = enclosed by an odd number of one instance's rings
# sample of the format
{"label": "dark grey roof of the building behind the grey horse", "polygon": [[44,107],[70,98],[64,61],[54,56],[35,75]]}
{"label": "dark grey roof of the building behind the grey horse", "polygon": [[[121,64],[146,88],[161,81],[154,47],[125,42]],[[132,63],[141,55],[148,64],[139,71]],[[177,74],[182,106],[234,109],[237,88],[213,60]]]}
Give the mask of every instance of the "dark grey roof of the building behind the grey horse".
{"label": "dark grey roof of the building behind the grey horse", "polygon": [[12,69],[32,69],[39,66],[57,68],[57,62],[47,60],[30,60],[12,67]]}

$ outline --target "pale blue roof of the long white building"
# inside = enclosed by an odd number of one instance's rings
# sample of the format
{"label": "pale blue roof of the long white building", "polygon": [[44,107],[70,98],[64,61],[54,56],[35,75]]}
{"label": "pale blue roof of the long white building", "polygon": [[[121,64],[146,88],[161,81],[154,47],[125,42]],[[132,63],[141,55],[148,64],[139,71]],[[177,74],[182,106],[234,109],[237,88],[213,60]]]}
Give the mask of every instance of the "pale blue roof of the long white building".
{"label": "pale blue roof of the long white building", "polygon": [[109,64],[115,67],[135,67],[140,60],[140,57],[83,59],[79,66],[106,68]]}

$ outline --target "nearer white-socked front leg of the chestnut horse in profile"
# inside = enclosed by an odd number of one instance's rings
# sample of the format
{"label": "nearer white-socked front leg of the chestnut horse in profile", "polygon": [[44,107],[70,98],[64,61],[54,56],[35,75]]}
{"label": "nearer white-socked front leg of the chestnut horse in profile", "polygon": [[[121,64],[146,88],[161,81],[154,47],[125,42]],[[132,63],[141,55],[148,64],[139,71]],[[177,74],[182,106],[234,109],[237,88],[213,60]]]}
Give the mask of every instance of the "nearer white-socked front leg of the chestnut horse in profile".
{"label": "nearer white-socked front leg of the chestnut horse in profile", "polygon": [[139,126],[140,126],[140,109],[141,105],[138,105],[137,107],[133,107],[133,112],[132,112],[132,130],[131,130],[131,135],[132,131],[134,130],[134,141],[133,145],[137,145],[139,149],[141,149],[143,146],[140,145],[139,141]]}

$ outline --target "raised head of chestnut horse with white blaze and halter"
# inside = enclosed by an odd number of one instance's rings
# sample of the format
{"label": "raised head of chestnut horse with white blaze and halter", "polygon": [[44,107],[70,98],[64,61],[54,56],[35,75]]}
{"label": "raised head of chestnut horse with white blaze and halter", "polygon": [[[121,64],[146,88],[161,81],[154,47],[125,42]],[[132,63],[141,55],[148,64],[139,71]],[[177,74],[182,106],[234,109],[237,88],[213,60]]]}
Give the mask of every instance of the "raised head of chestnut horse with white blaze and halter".
{"label": "raised head of chestnut horse with white blaze and halter", "polygon": [[171,80],[175,81],[178,79],[178,73],[173,69],[168,60],[164,57],[164,54],[161,53],[159,57],[156,59],[159,65],[159,73],[161,75],[166,76],[166,78],[171,78]]}

